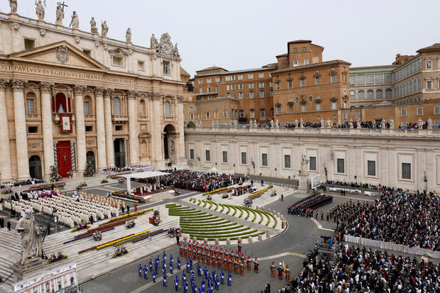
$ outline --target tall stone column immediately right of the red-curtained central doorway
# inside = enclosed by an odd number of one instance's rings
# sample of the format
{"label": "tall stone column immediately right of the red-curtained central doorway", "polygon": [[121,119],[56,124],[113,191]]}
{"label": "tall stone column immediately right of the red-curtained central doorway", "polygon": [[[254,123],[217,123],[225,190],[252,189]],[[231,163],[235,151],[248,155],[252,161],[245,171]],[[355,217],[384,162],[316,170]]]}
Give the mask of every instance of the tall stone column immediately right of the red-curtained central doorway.
{"label": "tall stone column immediately right of the red-curtained central doorway", "polygon": [[86,130],[84,126],[84,89],[75,85],[75,125],[77,126],[77,173],[81,175],[86,170]]}

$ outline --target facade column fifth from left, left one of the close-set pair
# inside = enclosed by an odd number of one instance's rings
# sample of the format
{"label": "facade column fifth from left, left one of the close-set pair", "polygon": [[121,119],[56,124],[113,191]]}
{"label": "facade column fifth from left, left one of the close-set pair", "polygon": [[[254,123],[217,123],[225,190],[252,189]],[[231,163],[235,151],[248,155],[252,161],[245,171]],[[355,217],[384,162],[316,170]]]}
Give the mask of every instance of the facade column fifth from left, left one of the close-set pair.
{"label": "facade column fifth from left, left one of the close-set pair", "polygon": [[97,87],[94,91],[94,99],[96,104],[95,113],[97,118],[98,170],[102,170],[107,166],[103,93],[104,93],[104,89],[102,87]]}

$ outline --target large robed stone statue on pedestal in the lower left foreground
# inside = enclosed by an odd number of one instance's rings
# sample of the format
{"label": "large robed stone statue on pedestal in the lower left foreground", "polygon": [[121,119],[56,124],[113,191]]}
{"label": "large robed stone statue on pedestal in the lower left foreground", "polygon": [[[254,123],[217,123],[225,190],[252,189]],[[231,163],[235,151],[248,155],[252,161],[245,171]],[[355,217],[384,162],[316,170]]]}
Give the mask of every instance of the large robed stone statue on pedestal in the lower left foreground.
{"label": "large robed stone statue on pedestal in the lower left foreground", "polygon": [[27,209],[25,216],[18,221],[16,231],[21,235],[21,264],[26,265],[26,263],[40,258],[43,241],[40,228],[37,226],[30,209]]}

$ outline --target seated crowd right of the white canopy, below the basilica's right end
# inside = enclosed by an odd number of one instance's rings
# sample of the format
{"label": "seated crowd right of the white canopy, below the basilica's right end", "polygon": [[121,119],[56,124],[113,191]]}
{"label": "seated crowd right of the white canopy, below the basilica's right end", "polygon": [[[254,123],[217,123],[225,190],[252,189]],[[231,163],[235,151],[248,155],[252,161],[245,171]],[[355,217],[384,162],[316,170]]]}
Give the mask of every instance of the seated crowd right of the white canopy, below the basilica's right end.
{"label": "seated crowd right of the white canopy, below the basilica's right end", "polygon": [[[175,188],[191,189],[198,192],[211,192],[212,190],[246,181],[246,177],[226,175],[216,172],[197,172],[191,170],[167,170],[170,175],[160,177],[160,183]],[[153,184],[155,178],[149,178],[148,183]]]}

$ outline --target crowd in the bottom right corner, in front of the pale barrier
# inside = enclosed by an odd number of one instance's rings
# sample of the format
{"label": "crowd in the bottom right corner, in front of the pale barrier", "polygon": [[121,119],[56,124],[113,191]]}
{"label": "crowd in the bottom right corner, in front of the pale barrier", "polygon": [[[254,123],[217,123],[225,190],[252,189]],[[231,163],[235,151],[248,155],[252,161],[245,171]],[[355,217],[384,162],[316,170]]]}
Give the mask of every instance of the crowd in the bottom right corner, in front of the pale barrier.
{"label": "crowd in the bottom right corner, in front of the pale barrier", "polygon": [[282,292],[439,292],[440,266],[387,251],[340,245],[334,265],[317,251]]}

